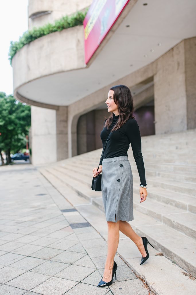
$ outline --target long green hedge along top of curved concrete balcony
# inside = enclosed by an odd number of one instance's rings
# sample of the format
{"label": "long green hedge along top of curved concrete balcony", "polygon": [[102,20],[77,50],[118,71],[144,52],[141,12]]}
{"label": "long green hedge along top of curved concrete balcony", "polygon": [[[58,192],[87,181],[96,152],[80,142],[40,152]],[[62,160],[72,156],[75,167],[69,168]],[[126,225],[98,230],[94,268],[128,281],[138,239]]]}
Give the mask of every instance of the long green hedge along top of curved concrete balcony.
{"label": "long green hedge along top of curved concrete balcony", "polygon": [[46,24],[43,27],[34,27],[32,30],[24,32],[22,37],[19,38],[19,41],[10,42],[9,48],[9,60],[10,64],[12,58],[24,45],[30,43],[31,41],[38,39],[42,36],[48,35],[53,32],[62,31],[67,28],[75,27],[83,24],[83,20],[87,14],[88,8],[86,8],[85,12],[78,11],[76,14],[72,14],[71,16],[65,16],[61,19],[55,21],[54,24]]}

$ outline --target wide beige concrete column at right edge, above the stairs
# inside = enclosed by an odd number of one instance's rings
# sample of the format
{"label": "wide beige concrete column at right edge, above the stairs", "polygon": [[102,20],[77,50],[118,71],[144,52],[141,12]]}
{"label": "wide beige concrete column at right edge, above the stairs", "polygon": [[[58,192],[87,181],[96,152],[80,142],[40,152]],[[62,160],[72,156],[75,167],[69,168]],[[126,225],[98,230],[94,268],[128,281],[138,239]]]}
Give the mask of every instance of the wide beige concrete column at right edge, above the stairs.
{"label": "wide beige concrete column at right edge, above the stairs", "polygon": [[155,134],[196,128],[195,40],[183,40],[157,60]]}

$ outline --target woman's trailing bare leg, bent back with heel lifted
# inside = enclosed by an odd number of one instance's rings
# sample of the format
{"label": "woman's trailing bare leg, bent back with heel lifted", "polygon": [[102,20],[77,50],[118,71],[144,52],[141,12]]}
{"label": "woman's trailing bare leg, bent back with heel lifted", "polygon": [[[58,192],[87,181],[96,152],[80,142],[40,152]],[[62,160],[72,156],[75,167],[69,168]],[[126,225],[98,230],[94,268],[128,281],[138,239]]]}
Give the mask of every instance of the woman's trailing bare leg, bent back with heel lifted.
{"label": "woman's trailing bare leg, bent back with heel lifted", "polygon": [[119,230],[135,243],[143,257],[147,255],[142,238],[136,234],[136,232],[127,221],[119,220]]}

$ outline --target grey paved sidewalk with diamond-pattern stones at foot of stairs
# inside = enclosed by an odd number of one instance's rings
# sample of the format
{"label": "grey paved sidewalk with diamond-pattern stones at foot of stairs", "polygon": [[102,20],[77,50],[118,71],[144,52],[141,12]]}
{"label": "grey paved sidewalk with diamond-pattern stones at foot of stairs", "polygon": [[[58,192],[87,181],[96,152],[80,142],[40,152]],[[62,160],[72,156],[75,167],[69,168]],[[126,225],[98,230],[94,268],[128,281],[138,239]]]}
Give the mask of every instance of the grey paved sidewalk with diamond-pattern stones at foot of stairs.
{"label": "grey paved sidewalk with diamond-pattern stones at foot of stairs", "polygon": [[117,280],[96,286],[107,243],[34,166],[0,179],[0,295],[152,294],[118,255]]}

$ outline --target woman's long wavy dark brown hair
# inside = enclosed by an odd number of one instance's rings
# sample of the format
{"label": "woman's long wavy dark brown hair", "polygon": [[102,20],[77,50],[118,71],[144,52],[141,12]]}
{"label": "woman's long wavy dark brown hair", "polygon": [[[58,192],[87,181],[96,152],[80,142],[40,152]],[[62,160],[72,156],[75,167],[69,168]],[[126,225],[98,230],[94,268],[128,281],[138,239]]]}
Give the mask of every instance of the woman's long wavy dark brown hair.
{"label": "woman's long wavy dark brown hair", "polygon": [[[135,118],[133,115],[134,106],[133,106],[133,97],[131,95],[130,89],[125,85],[116,85],[110,88],[114,91],[113,100],[115,104],[118,105],[119,119],[114,125],[111,131],[117,130],[122,125],[124,125],[129,118]],[[104,127],[110,127],[113,121],[113,113],[110,114],[105,121]]]}

